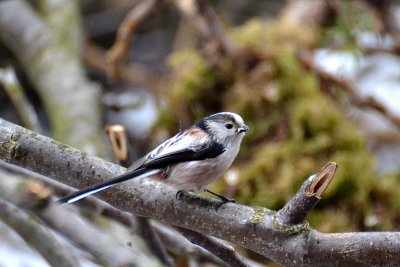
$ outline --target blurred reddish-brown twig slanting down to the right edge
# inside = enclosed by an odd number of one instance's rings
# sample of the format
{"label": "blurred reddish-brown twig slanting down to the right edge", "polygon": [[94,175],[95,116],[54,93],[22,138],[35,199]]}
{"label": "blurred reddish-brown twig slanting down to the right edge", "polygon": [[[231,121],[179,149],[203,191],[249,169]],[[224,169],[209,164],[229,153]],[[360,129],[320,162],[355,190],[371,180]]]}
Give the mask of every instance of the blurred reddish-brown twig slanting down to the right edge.
{"label": "blurred reddish-brown twig slanting down to the right edge", "polygon": [[354,83],[352,83],[346,78],[338,77],[334,74],[331,74],[323,70],[314,62],[312,56],[309,53],[302,52],[299,58],[301,62],[304,64],[304,66],[312,70],[320,79],[328,81],[333,84],[337,84],[340,88],[346,91],[346,93],[350,97],[351,103],[353,103],[359,108],[370,108],[379,112],[390,122],[392,122],[395,126],[397,126],[398,129],[400,129],[400,117],[391,112],[379,100],[377,100],[373,96],[366,96],[366,97],[362,96],[359,93],[359,90],[356,88]]}

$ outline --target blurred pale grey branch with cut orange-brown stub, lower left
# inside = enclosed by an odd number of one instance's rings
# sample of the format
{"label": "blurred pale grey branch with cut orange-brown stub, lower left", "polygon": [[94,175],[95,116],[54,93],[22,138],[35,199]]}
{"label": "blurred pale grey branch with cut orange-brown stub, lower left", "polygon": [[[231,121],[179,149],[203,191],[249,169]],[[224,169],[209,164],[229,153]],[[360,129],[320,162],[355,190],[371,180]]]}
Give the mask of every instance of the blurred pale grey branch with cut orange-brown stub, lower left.
{"label": "blurred pale grey branch with cut orange-brown stub, lower left", "polygon": [[106,266],[162,266],[141,249],[138,237],[129,237],[137,245],[128,248],[123,242],[83,220],[70,207],[52,202],[50,190],[43,183],[0,172],[0,185],[2,197],[35,213],[48,226],[89,252],[100,263]]}

